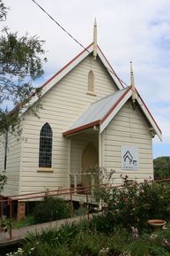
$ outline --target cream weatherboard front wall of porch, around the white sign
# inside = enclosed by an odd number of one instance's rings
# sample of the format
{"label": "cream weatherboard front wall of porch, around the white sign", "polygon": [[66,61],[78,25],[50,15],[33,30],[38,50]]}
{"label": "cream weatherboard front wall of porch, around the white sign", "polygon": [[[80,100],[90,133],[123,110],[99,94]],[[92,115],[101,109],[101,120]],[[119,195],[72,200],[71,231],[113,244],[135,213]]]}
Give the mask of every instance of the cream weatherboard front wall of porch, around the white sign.
{"label": "cream weatherboard front wall of porch, around the white sign", "polygon": [[[137,182],[153,178],[152,136],[138,107],[134,111],[127,102],[104,130],[102,143],[103,167],[115,170],[112,182],[120,184],[120,175],[128,175]],[[122,170],[122,145],[138,147],[138,170]]]}

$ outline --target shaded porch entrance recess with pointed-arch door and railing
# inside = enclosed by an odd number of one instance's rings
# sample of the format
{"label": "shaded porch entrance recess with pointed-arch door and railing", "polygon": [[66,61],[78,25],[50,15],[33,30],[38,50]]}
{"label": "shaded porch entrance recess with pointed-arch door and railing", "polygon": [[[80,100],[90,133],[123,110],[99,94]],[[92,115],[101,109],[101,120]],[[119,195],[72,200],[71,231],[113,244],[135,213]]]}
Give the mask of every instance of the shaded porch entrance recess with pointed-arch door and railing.
{"label": "shaded porch entrance recess with pointed-arch door and railing", "polygon": [[100,184],[100,133],[88,128],[69,138],[69,186],[76,194],[92,194]]}

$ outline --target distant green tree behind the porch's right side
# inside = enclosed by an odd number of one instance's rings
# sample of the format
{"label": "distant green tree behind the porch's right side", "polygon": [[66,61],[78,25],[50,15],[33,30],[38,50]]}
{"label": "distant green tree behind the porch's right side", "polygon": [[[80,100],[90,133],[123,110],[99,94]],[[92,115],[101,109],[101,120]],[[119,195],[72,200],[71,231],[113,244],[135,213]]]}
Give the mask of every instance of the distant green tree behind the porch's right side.
{"label": "distant green tree behind the porch's right side", "polygon": [[164,179],[170,177],[170,157],[153,159],[154,177]]}

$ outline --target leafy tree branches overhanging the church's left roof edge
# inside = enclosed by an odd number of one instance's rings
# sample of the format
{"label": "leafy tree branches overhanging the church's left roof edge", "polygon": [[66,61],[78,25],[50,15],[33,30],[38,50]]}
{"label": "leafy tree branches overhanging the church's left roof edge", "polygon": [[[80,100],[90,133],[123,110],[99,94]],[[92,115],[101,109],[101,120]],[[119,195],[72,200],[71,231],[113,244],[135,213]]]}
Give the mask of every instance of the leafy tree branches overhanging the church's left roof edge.
{"label": "leafy tree branches overhanging the church's left roof edge", "polygon": [[[6,19],[8,8],[0,0],[0,21]],[[0,136],[13,131],[18,123],[18,113],[29,101],[29,96],[36,92],[33,81],[43,74],[41,59],[45,53],[43,41],[38,36],[18,37],[4,27],[0,35]],[[9,112],[7,105],[17,105]]]}

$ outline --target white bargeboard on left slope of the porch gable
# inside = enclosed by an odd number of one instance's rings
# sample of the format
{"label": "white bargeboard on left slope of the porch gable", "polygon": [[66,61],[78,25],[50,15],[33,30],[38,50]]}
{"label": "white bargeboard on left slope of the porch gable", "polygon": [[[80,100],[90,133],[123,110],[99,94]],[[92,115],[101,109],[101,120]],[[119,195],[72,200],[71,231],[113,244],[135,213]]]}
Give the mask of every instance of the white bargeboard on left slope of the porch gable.
{"label": "white bargeboard on left slope of the porch gable", "polygon": [[120,109],[122,108],[122,106],[127,102],[127,100],[129,100],[129,97],[131,97],[131,94],[132,94],[132,90],[130,89],[129,92],[122,98],[120,103],[118,105],[116,105],[116,107],[113,110],[113,112],[111,112],[107,116],[107,119],[104,120],[104,122],[100,125],[100,133],[102,133],[104,131],[104,129],[107,128],[107,125],[109,124],[109,122],[111,120],[113,120],[113,118],[115,117],[116,113],[119,112]]}

